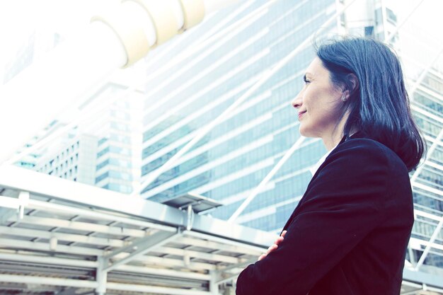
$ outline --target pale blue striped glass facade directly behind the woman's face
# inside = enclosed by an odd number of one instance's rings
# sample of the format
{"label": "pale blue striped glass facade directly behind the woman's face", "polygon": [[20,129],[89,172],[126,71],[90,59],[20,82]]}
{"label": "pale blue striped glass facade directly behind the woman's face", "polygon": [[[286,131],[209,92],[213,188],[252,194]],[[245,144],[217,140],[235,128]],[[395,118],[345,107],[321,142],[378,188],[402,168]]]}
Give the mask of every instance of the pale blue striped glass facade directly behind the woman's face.
{"label": "pale blue striped glass facade directly behind the woman's face", "polygon": [[[166,45],[167,54],[151,57],[148,72],[161,71],[146,84],[142,180],[335,12],[331,0],[254,1],[217,13]],[[217,25],[222,26],[218,32],[207,32]],[[336,22],[326,28],[337,30]],[[218,37],[205,42],[202,36],[211,33]],[[178,54],[185,58],[171,60]],[[164,202],[194,192],[223,202],[211,214],[228,219],[299,138],[297,112],[289,103],[301,89],[313,54],[311,46],[302,49],[171,169],[142,187],[142,195]],[[306,139],[238,222],[265,231],[280,229],[306,189],[309,167],[325,152],[321,141]]]}

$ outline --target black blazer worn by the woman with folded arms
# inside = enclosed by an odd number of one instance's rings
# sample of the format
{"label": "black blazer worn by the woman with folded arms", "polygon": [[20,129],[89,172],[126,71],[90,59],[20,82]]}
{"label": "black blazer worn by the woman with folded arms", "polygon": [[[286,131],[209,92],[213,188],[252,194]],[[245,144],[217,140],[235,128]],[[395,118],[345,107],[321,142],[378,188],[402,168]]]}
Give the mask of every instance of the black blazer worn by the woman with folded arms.
{"label": "black blazer worn by the woman with folded arms", "polygon": [[311,179],[284,241],[237,279],[237,295],[400,294],[413,226],[408,169],[362,132]]}

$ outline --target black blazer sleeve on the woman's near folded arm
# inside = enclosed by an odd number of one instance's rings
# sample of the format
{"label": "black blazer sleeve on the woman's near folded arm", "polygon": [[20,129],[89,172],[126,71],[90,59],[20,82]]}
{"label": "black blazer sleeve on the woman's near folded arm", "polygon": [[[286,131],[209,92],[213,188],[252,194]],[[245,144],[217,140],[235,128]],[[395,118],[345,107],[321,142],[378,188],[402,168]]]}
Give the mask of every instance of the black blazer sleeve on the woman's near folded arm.
{"label": "black blazer sleeve on the woman's near folded arm", "polygon": [[306,295],[381,221],[387,161],[376,144],[340,144],[312,180],[284,241],[237,279],[237,295]]}

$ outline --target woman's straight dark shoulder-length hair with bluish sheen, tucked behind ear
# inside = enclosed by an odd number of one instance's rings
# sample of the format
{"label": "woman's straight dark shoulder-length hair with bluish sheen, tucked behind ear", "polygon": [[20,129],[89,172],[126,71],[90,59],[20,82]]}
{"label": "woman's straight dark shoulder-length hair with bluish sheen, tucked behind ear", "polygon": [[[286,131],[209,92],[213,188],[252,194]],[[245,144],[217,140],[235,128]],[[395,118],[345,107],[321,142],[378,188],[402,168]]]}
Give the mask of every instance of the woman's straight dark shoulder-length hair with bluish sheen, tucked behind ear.
{"label": "woman's straight dark shoulder-length hair with bluish sheen, tucked behind ear", "polygon": [[[323,43],[316,54],[332,83],[350,91],[343,133],[362,131],[395,151],[408,170],[416,168],[425,154],[425,141],[410,113],[403,71],[393,50],[376,40],[345,37]],[[357,83],[352,83],[355,77]]]}

